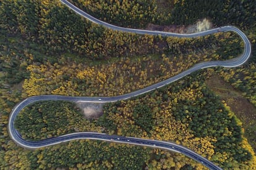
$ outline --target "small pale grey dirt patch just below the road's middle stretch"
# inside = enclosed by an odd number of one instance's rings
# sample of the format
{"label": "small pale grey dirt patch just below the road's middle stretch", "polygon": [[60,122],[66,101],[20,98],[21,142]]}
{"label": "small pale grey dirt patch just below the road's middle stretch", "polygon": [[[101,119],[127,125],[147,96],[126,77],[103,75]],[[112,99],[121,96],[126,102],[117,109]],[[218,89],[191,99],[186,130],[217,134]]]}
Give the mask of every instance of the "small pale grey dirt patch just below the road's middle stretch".
{"label": "small pale grey dirt patch just below the road's middle stretch", "polygon": [[103,115],[103,105],[104,103],[77,102],[77,106],[81,108],[87,119],[100,118]]}

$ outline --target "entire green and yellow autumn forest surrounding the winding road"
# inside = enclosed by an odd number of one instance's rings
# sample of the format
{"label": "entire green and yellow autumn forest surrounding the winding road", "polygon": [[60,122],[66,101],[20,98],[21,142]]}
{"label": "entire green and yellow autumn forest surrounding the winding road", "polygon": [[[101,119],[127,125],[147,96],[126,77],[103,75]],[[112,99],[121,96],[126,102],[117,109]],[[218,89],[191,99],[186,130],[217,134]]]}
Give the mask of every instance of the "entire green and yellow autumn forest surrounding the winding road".
{"label": "entire green and yellow autumn forest surrounding the winding road", "polygon": [[[100,20],[129,28],[192,25],[202,18],[215,27],[235,25],[250,39],[252,56],[242,67],[200,70],[148,94],[108,103],[99,119],[84,118],[75,103],[33,103],[15,121],[22,137],[106,132],[176,142],[223,169],[256,167],[256,141],[245,138],[256,135],[255,123],[244,129],[236,113],[204,83],[215,72],[256,107],[254,1],[70,2]],[[178,153],[95,140],[26,150],[9,138],[9,114],[28,96],[125,94],[196,63],[233,59],[243,51],[239,36],[230,32],[179,39],[109,30],[57,0],[1,1],[0,44],[0,169],[205,169]]]}

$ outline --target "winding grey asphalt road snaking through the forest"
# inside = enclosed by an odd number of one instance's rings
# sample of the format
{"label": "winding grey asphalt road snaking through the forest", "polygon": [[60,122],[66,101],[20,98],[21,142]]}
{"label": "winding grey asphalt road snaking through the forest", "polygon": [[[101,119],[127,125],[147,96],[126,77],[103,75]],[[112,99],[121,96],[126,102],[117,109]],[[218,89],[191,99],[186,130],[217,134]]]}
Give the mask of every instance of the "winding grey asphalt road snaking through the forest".
{"label": "winding grey asphalt road snaking through the forest", "polygon": [[134,137],[122,137],[122,136],[109,136],[108,134],[101,134],[101,133],[96,133],[96,132],[76,132],[76,133],[72,133],[72,134],[66,134],[64,136],[40,140],[37,142],[27,141],[22,138],[20,133],[14,127],[14,121],[15,121],[16,116],[22,110],[22,108],[26,107],[30,103],[43,101],[43,100],[66,100],[66,101],[70,101],[70,102],[98,102],[98,103],[117,102],[118,100],[130,99],[131,97],[135,97],[137,95],[145,94],[147,92],[153,91],[162,86],[165,86],[166,84],[173,83],[174,81],[177,81],[178,79],[181,79],[184,76],[187,76],[190,73],[200,70],[200,69],[203,69],[203,68],[238,67],[239,65],[242,65],[243,63],[245,63],[250,57],[251,46],[250,46],[249,39],[245,36],[245,34],[241,30],[239,30],[238,28],[236,28],[234,26],[222,26],[220,28],[215,28],[212,30],[202,31],[200,33],[193,33],[193,34],[177,34],[177,33],[163,32],[163,31],[148,31],[148,30],[122,28],[120,26],[114,26],[109,23],[98,20],[95,17],[92,17],[91,15],[87,14],[86,12],[83,12],[83,10],[80,10],[79,8],[75,7],[69,1],[61,0],[61,2],[63,4],[65,4],[67,7],[69,7],[70,9],[74,10],[74,12],[76,12],[77,14],[82,15],[82,17],[85,17],[94,23],[98,23],[100,25],[106,26],[112,30],[125,31],[127,33],[151,34],[151,35],[161,35],[161,36],[176,36],[179,38],[183,38],[183,37],[184,38],[193,38],[193,37],[197,37],[197,36],[205,36],[207,34],[218,33],[219,31],[223,31],[223,32],[224,31],[233,31],[233,32],[239,34],[239,36],[241,36],[242,40],[244,41],[244,52],[242,55],[240,55],[236,59],[231,59],[231,60],[226,60],[226,61],[211,61],[211,62],[198,63],[197,65],[194,65],[194,67],[189,68],[186,71],[183,71],[179,75],[176,75],[176,76],[173,76],[172,78],[161,81],[160,83],[156,83],[151,86],[145,87],[144,89],[140,89],[138,91],[130,92],[130,93],[124,94],[124,95],[117,95],[114,97],[69,97],[69,96],[63,96],[63,95],[37,95],[37,96],[33,96],[33,97],[28,97],[27,99],[25,99],[22,102],[20,102],[19,104],[17,104],[12,109],[11,115],[9,116],[8,131],[9,131],[9,135],[10,135],[11,139],[14,140],[14,142],[17,145],[20,145],[21,147],[28,148],[28,149],[47,147],[50,145],[56,145],[56,144],[60,144],[62,142],[67,142],[67,141],[76,140],[76,139],[94,139],[94,140],[105,140],[105,141],[109,141],[109,142],[117,142],[117,143],[123,143],[123,144],[142,145],[142,146],[153,147],[153,148],[163,148],[165,150],[182,153],[182,154],[194,159],[195,161],[202,163],[203,165],[207,166],[210,169],[221,169],[218,166],[216,166],[215,164],[211,163],[211,161],[207,160],[203,156],[198,155],[197,153],[193,152],[192,150],[189,150],[186,147],[182,147],[181,145],[177,145],[177,144],[174,144],[171,142],[164,142],[164,141],[160,141],[160,140],[139,139],[139,138],[134,138]]}

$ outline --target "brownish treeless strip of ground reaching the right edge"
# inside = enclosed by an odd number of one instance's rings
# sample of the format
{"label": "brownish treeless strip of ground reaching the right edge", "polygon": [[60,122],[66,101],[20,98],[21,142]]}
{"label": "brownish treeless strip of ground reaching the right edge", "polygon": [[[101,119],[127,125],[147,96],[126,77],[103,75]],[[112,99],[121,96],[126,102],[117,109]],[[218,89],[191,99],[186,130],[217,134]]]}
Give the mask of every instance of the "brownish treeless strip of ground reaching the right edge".
{"label": "brownish treeless strip of ground reaching the right edge", "polygon": [[256,108],[245,97],[242,92],[234,89],[233,86],[226,83],[218,75],[213,75],[207,81],[207,86],[225,100],[234,114],[242,121],[245,130],[245,137],[256,151]]}

